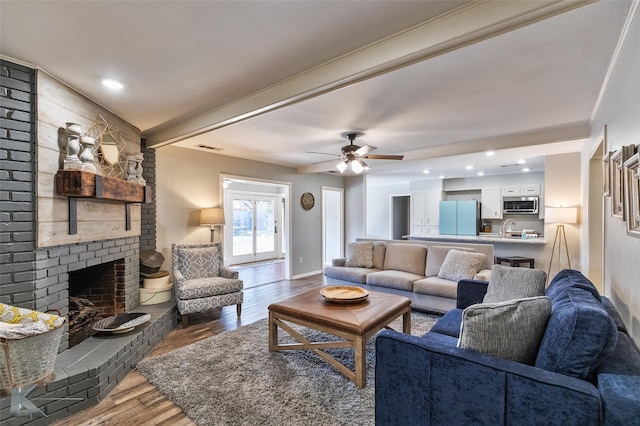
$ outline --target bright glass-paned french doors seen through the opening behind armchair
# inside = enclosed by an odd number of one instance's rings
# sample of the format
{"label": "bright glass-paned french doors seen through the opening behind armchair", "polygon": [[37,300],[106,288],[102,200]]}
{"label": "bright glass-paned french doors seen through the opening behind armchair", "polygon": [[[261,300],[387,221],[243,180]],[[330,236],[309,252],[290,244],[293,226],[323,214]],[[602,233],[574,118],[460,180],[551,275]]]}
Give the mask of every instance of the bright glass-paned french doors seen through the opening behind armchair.
{"label": "bright glass-paned french doors seen through the opening behind armchair", "polygon": [[225,238],[231,240],[229,264],[256,262],[277,257],[278,197],[230,194]]}

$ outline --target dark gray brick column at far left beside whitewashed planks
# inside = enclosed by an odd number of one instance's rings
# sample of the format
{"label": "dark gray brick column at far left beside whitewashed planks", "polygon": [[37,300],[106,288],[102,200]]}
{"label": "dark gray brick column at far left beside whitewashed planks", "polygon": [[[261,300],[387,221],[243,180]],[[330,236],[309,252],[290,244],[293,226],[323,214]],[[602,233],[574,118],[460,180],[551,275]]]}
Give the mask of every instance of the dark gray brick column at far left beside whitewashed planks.
{"label": "dark gray brick column at far left beside whitewashed planks", "polygon": [[35,309],[35,71],[0,60],[0,301]]}

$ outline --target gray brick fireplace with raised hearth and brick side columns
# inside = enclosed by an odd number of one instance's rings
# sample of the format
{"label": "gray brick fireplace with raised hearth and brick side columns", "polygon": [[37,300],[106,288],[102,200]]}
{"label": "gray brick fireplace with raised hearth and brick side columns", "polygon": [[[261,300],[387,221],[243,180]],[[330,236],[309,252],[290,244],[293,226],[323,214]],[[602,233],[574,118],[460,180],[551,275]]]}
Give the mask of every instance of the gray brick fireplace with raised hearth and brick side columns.
{"label": "gray brick fireplace with raised hearth and brick side columns", "polygon": [[[36,136],[37,99],[36,71],[0,60],[0,301],[67,316],[70,293],[80,291],[100,295],[104,315],[136,311],[152,318],[130,333],[90,337],[71,349],[65,326],[55,379],[29,396],[49,398],[34,399],[49,417],[12,418],[9,398],[0,398],[0,419],[15,425],[47,425],[97,404],[177,323],[173,302],[140,306],[140,250],[155,249],[153,203],[141,206],[140,235],[38,247],[38,220],[47,217],[38,219],[36,202],[37,146],[43,137]],[[155,199],[155,153],[144,146],[142,152],[143,176]],[[105,270],[108,297],[106,281],[95,279]]]}

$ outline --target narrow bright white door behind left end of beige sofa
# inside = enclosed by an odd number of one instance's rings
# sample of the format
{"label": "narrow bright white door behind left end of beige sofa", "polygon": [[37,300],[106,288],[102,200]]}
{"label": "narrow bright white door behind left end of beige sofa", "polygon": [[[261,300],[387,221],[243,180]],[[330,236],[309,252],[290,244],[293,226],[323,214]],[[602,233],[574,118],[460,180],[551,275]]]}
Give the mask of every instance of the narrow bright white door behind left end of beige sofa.
{"label": "narrow bright white door behind left end of beige sofa", "polygon": [[322,263],[344,255],[344,190],[322,188]]}

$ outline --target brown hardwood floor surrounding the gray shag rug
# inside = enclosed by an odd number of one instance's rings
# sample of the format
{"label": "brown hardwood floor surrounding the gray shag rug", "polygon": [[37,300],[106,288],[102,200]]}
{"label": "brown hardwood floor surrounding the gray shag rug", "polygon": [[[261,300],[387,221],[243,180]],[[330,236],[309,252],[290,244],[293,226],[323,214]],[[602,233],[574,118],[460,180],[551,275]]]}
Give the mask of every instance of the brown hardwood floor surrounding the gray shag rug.
{"label": "brown hardwood floor surrounding the gray shag rug", "polygon": [[[234,306],[190,315],[189,327],[177,328],[169,333],[148,358],[266,318],[269,304],[323,284],[323,277],[318,274],[294,281],[283,280],[247,288],[244,291],[242,318],[238,319]],[[55,426],[124,424],[195,425],[137,370],[130,372],[98,405],[53,423]]]}

